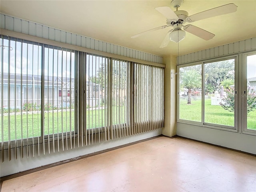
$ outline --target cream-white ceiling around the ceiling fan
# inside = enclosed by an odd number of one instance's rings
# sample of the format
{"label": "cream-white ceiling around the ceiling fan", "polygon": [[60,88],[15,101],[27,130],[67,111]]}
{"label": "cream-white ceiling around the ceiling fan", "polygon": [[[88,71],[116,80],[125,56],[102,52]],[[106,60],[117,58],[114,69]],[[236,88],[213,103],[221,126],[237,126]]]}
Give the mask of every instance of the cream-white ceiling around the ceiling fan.
{"label": "cream-white ceiling around the ceiling fan", "polygon": [[[178,50],[178,44],[174,42],[166,48],[159,48],[170,28],[134,39],[130,37],[165,25],[166,18],[154,8],[171,7],[170,2],[1,0],[0,11],[75,34],[165,56],[177,55]],[[216,36],[206,41],[186,32],[186,38],[180,42],[180,55],[256,37],[256,0],[184,0],[179,10],[186,10],[192,15],[228,3],[236,4],[237,11],[192,23]]]}

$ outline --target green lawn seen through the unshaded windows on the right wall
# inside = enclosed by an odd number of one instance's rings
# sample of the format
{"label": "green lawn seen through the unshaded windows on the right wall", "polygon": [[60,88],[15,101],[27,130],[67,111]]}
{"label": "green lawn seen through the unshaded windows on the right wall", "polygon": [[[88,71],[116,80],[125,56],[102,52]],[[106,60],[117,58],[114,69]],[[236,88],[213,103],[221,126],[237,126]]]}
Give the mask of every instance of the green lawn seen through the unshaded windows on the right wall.
{"label": "green lawn seen through the unshaded windows on the right wall", "polygon": [[[201,122],[201,100],[193,100],[188,105],[186,99],[180,99],[180,119]],[[211,100],[205,100],[205,122],[234,126],[234,112],[224,110],[221,106],[211,105]],[[247,115],[248,129],[256,130],[256,111]]]}

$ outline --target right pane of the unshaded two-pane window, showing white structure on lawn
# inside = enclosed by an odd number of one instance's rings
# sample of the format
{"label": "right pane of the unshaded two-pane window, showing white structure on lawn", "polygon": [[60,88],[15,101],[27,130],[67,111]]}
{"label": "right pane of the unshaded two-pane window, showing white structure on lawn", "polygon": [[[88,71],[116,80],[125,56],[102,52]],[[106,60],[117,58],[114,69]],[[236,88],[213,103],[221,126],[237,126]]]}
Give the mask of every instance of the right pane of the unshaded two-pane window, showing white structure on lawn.
{"label": "right pane of the unshaded two-pane window, showing white structure on lawn", "polygon": [[234,127],[235,60],[204,63],[204,122]]}

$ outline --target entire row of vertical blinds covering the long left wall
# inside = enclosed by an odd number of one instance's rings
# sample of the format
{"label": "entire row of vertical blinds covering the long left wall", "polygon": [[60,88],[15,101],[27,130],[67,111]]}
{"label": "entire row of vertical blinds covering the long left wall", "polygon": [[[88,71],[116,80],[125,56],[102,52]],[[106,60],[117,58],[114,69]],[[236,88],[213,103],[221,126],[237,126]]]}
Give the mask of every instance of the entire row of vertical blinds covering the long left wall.
{"label": "entire row of vertical blinds covering the long left wall", "polygon": [[0,44],[2,161],[164,124],[163,68],[7,36]]}

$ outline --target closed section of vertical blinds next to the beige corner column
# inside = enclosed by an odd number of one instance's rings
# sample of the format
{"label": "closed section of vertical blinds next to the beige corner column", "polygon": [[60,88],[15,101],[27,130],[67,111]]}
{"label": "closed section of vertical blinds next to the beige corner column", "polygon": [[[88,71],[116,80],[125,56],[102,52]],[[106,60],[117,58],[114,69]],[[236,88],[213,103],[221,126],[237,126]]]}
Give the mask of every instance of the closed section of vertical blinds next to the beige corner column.
{"label": "closed section of vertical blinds next to the beige corner column", "polygon": [[134,133],[164,126],[164,69],[134,64]]}

